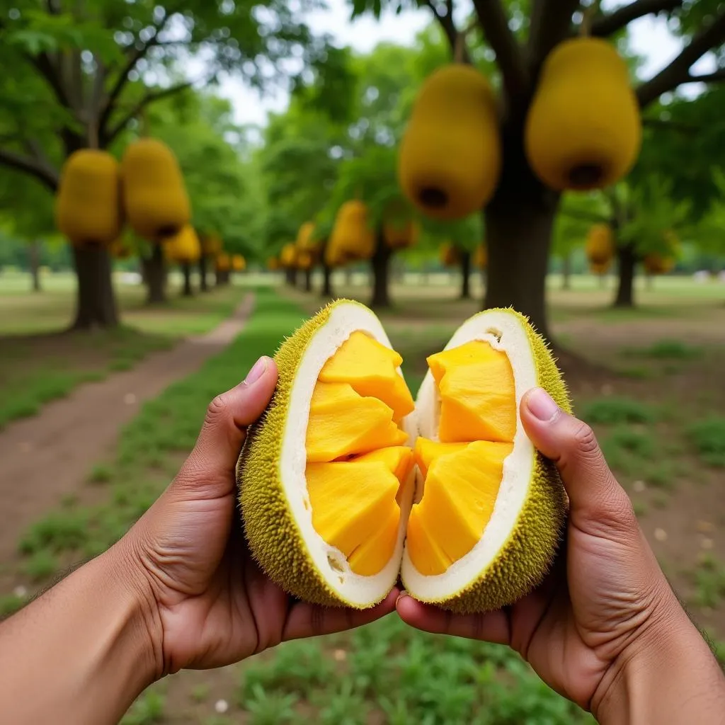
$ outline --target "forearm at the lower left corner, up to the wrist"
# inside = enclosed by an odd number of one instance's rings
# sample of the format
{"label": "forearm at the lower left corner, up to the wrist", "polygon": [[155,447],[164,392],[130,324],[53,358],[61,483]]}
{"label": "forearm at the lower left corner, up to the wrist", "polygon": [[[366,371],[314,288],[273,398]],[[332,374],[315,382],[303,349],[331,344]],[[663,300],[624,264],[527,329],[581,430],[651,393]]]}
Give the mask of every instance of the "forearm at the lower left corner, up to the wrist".
{"label": "forearm at the lower left corner, up to the wrist", "polygon": [[123,543],[0,626],[0,711],[14,725],[117,723],[159,669],[151,602]]}

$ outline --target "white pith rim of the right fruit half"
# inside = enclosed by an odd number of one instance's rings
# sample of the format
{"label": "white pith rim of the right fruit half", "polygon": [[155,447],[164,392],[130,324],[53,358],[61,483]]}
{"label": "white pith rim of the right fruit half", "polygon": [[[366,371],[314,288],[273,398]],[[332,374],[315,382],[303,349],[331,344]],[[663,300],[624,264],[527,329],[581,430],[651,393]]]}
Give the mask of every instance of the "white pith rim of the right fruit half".
{"label": "white pith rim of the right fruit half", "polygon": [[[521,321],[506,312],[481,312],[457,329],[444,349],[460,347],[471,340],[483,340],[503,350],[511,363],[516,397],[516,434],[513,451],[503,463],[501,486],[494,511],[484,534],[468,554],[455,561],[442,574],[422,574],[415,568],[407,549],[400,568],[403,584],[411,595],[423,602],[440,602],[479,579],[491,566],[513,530],[534,472],[534,446],[521,425],[519,406],[527,390],[537,384],[537,371],[529,338]],[[440,397],[431,371],[423,378],[415,401],[418,435],[438,440]],[[425,494],[423,494],[425,495]]]}

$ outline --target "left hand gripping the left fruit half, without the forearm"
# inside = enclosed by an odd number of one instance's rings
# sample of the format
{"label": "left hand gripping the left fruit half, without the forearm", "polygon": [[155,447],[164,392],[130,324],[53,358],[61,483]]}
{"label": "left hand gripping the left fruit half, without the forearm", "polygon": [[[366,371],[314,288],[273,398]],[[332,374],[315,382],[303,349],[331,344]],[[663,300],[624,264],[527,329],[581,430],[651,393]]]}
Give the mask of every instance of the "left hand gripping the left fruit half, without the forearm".
{"label": "left hand gripping the left fruit half, without the forearm", "polygon": [[233,663],[286,639],[350,629],[394,609],[397,591],[356,611],[297,602],[257,567],[239,526],[235,468],[246,428],[273,394],[262,357],[247,380],[215,398],[178,476],[120,547],[133,562],[158,678]]}

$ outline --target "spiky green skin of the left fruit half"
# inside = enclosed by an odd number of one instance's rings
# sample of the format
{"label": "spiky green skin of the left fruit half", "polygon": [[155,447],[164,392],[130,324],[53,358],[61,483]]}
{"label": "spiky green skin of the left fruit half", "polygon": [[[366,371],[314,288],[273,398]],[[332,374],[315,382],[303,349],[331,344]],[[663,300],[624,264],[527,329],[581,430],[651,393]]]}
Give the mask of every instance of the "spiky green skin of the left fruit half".
{"label": "spiky green skin of the left fruit half", "polygon": [[[305,540],[283,496],[282,431],[297,368],[307,345],[327,322],[331,310],[350,302],[339,299],[327,305],[281,344],[274,356],[279,371],[275,392],[260,420],[249,428],[237,465],[239,503],[252,555],[276,584],[313,604],[339,606],[349,602],[334,592],[312,566]],[[370,602],[370,606],[375,603]]]}

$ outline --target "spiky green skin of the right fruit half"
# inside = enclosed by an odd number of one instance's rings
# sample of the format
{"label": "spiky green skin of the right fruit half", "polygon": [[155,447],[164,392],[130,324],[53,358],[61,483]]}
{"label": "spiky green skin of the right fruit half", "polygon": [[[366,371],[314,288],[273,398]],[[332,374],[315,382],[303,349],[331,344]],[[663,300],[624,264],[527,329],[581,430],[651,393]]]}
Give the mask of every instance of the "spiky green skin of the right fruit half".
{"label": "spiky green skin of the right fruit half", "polygon": [[[566,384],[542,336],[521,313],[511,309],[495,311],[515,315],[521,320],[537,367],[537,384],[562,410],[571,413]],[[485,315],[486,312],[479,314]],[[568,500],[555,466],[538,451],[534,455],[537,460],[529,494],[515,526],[491,566],[454,597],[433,603],[458,614],[497,610],[521,599],[544,579],[560,543]]]}

